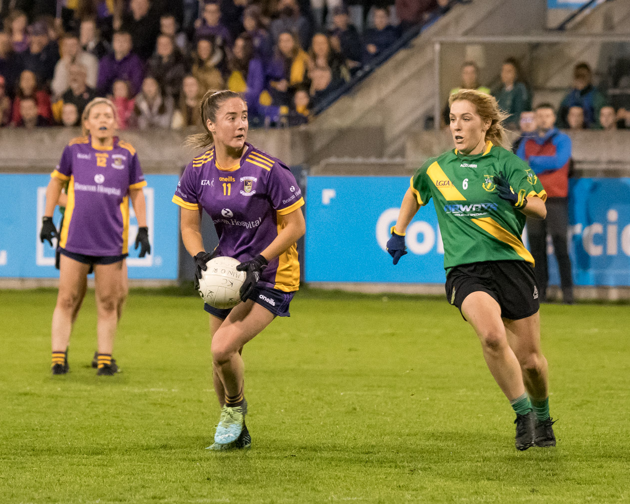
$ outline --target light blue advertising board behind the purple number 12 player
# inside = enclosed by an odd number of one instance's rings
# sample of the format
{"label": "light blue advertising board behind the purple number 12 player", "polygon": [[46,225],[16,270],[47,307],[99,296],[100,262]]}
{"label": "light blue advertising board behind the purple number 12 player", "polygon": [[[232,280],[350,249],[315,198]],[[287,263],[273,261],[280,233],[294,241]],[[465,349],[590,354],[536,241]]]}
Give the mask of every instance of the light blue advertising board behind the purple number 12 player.
{"label": "light blue advertising board behind the purple number 12 player", "polygon": [[[49,175],[0,174],[0,277],[55,278],[55,249],[41,243]],[[178,207],[171,203],[179,177],[147,175],[144,195],[151,254],[134,250],[138,224],[130,205],[129,278],[175,280],[178,273]],[[53,217],[58,226],[60,214]],[[56,244],[55,241],[53,241]]]}

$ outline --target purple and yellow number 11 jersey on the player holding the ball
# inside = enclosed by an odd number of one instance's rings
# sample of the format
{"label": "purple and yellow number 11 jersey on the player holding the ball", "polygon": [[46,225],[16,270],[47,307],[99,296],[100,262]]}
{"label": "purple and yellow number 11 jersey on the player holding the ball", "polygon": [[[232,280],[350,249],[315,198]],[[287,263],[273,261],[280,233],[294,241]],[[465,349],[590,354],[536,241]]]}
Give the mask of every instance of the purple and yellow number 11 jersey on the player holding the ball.
{"label": "purple and yellow number 11 jersey on the player holding the ball", "polygon": [[[240,164],[217,166],[214,147],[186,166],[173,203],[187,210],[203,209],[219,235],[217,253],[239,261],[260,254],[278,236],[287,215],[304,205],[302,191],[289,168],[279,159],[245,144]],[[297,245],[269,261],[259,285],[292,292],[299,289]]]}

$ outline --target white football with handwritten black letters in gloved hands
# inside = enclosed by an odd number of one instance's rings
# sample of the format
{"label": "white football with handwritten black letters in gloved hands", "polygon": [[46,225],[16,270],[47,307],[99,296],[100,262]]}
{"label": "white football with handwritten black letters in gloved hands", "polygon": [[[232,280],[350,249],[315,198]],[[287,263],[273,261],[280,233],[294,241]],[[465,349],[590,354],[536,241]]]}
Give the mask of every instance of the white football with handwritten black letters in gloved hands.
{"label": "white football with handwritten black letters in gloved hands", "polygon": [[199,294],[210,306],[227,309],[241,302],[241,285],[245,272],[236,270],[239,261],[233,257],[215,257],[207,263],[207,270],[201,272]]}

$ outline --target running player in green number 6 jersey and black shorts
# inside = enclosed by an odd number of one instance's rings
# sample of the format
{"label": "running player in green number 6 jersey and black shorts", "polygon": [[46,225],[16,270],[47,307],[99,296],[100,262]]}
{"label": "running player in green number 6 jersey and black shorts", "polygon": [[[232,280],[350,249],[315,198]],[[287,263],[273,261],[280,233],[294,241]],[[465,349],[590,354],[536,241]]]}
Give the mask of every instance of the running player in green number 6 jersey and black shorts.
{"label": "running player in green number 6 jersey and black shorts", "polygon": [[462,89],[449,98],[455,148],[411,177],[387,251],[406,254],[405,229],[433,198],[444,241],[446,295],[479,336],[488,368],[516,413],[516,447],[556,444],[541,352],[534,258],[520,236],[525,217],[544,219],[547,194],[507,150],[495,98]]}

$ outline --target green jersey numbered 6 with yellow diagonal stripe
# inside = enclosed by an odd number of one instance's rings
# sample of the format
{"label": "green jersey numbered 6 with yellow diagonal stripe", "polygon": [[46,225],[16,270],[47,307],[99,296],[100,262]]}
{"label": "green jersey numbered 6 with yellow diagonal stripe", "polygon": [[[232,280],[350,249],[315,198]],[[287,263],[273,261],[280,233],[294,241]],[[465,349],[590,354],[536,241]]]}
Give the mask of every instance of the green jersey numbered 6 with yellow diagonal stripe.
{"label": "green jersey numbered 6 with yellow diagonal stripe", "polygon": [[431,157],[411,177],[411,190],[420,205],[433,198],[447,272],[481,261],[521,260],[534,265],[520,238],[525,215],[496,192],[493,176],[499,173],[520,199],[546,200],[547,193],[529,166],[492,142],[475,156],[454,149]]}

